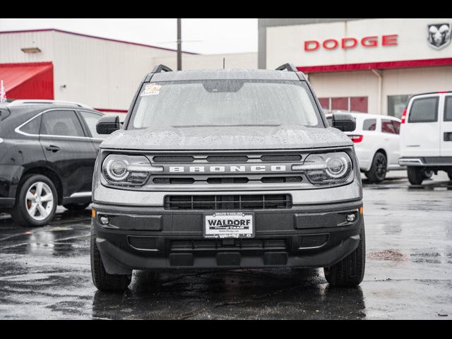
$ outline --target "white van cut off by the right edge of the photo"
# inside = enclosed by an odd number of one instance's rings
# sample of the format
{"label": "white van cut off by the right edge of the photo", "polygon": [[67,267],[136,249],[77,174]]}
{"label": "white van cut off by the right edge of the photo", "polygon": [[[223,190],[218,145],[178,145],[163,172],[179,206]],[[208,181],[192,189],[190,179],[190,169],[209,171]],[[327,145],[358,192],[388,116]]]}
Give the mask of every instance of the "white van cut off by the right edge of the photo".
{"label": "white van cut off by the right edge of the photo", "polygon": [[412,96],[400,137],[399,164],[408,167],[411,184],[422,184],[426,171],[445,171],[452,180],[452,92]]}

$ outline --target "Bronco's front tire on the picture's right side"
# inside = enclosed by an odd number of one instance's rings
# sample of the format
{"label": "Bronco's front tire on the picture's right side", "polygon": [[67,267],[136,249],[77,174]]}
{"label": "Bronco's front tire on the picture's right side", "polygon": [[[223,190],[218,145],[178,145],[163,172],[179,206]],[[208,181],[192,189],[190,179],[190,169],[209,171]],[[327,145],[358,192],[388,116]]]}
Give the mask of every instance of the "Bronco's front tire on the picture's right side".
{"label": "Bronco's front tire on the picture's right side", "polygon": [[359,244],[355,251],[331,267],[323,268],[326,281],[331,286],[355,287],[364,278],[366,266],[366,234],[364,225],[359,233]]}

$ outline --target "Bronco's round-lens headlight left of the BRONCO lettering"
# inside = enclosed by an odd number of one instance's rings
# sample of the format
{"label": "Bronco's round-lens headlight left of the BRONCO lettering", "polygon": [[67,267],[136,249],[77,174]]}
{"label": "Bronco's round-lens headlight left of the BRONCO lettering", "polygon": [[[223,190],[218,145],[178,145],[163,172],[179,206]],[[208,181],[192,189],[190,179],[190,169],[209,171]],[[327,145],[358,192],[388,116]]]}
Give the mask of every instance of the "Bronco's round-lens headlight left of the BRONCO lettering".
{"label": "Bronco's round-lens headlight left of the BRONCO lettering", "polygon": [[102,174],[109,184],[141,186],[152,172],[162,172],[163,167],[150,164],[143,155],[108,155],[102,163]]}

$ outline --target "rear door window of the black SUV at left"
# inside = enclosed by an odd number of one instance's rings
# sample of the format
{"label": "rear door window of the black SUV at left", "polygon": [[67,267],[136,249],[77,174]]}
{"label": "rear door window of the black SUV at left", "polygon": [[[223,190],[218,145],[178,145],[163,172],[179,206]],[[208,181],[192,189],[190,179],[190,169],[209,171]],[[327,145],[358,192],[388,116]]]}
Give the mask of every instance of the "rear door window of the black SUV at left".
{"label": "rear door window of the black SUV at left", "polygon": [[45,112],[40,133],[52,136],[85,136],[74,111]]}

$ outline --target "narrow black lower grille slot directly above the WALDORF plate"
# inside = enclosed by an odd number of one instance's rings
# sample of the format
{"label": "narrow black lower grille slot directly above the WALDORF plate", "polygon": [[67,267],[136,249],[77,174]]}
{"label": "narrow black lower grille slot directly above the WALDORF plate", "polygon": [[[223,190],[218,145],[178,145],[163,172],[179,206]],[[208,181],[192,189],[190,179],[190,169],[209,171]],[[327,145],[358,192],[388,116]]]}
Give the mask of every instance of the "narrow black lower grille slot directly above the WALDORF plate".
{"label": "narrow black lower grille slot directly above the WALDORF plate", "polygon": [[165,196],[165,210],[270,210],[292,208],[290,194]]}

